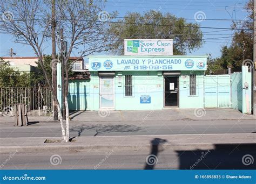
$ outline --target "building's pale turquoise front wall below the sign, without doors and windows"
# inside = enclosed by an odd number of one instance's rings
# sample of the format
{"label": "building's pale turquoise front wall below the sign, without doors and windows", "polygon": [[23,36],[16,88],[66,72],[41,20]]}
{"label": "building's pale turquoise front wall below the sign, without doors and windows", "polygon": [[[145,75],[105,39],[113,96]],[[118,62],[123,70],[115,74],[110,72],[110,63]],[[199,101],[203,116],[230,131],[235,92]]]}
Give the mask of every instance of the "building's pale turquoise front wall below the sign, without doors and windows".
{"label": "building's pale turquoise front wall below the sign, without doors and windows", "polygon": [[[197,75],[197,95],[190,96],[190,72],[179,77],[179,108],[204,107],[204,73]],[[125,96],[125,75],[132,75],[132,96]],[[121,82],[121,84],[120,84]],[[185,83],[186,84],[185,84]],[[140,103],[140,97],[150,97],[150,103]],[[71,110],[99,110],[99,77],[91,73],[90,81],[70,81]],[[157,72],[116,72],[114,77],[114,110],[157,110],[164,108],[164,77]]]}

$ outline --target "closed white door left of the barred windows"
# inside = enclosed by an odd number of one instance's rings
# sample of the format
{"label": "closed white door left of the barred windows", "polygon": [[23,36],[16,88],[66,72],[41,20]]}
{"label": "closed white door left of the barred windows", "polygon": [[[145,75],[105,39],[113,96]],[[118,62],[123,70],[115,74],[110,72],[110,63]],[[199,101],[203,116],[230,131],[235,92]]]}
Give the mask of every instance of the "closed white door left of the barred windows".
{"label": "closed white door left of the barred windows", "polygon": [[99,102],[100,108],[114,108],[114,77],[100,76],[99,78]]}

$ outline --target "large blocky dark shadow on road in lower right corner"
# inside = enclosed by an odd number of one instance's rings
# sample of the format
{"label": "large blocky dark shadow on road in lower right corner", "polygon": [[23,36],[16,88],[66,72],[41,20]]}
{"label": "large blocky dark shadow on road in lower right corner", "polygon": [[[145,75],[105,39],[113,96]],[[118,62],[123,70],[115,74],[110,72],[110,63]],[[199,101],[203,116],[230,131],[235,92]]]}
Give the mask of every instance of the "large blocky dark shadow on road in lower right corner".
{"label": "large blocky dark shadow on road in lower right corner", "polygon": [[256,144],[214,144],[211,150],[178,150],[179,169],[255,169]]}

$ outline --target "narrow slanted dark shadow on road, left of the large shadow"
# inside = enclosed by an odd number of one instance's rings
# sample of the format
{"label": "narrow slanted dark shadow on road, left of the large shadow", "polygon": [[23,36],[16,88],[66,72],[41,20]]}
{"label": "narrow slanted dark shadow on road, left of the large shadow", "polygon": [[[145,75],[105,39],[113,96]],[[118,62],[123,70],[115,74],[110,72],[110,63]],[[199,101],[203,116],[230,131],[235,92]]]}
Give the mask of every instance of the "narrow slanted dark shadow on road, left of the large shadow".
{"label": "narrow slanted dark shadow on road, left of the large shadow", "polygon": [[144,169],[154,169],[154,166],[158,162],[158,153],[164,150],[164,148],[161,147],[161,145],[166,143],[166,141],[167,140],[160,138],[154,138],[153,140],[151,140],[151,152],[146,157]]}

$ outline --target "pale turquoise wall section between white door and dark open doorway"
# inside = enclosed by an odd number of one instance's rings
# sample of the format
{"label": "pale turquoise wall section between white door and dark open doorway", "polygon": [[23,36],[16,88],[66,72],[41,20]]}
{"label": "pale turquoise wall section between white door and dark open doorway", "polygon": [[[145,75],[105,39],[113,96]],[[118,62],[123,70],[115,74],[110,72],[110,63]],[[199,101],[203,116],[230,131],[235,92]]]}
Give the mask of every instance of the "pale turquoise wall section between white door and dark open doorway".
{"label": "pale turquoise wall section between white door and dark open doorway", "polygon": [[[125,75],[132,75],[131,97],[125,96]],[[118,86],[122,81],[122,86]],[[152,110],[164,107],[163,76],[157,72],[122,72],[122,76],[115,77],[115,107],[116,110]],[[140,103],[140,97],[150,97],[151,103]]]}

